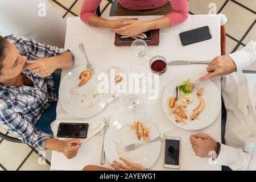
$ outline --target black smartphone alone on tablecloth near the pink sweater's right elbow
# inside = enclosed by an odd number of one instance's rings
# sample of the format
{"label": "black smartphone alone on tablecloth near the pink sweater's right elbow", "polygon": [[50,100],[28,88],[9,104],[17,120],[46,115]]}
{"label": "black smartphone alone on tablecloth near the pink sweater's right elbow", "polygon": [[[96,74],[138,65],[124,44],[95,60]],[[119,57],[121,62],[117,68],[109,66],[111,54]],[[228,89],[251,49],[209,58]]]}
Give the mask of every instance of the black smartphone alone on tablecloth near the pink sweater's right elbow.
{"label": "black smartphone alone on tablecloth near the pink sweater's right elbow", "polygon": [[180,33],[180,40],[183,46],[212,39],[209,26],[196,28]]}

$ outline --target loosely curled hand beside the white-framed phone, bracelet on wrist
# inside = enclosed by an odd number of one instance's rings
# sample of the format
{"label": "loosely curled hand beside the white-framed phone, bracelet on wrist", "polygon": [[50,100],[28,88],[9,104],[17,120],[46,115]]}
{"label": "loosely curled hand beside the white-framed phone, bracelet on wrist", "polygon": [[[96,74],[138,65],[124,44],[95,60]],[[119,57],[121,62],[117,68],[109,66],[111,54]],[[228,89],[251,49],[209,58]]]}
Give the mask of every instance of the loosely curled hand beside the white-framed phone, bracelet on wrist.
{"label": "loosely curled hand beside the white-framed phone, bracelet on wrist", "polygon": [[215,151],[217,146],[215,140],[207,134],[197,133],[196,135],[191,135],[189,139],[196,155],[200,157],[210,156],[209,152]]}

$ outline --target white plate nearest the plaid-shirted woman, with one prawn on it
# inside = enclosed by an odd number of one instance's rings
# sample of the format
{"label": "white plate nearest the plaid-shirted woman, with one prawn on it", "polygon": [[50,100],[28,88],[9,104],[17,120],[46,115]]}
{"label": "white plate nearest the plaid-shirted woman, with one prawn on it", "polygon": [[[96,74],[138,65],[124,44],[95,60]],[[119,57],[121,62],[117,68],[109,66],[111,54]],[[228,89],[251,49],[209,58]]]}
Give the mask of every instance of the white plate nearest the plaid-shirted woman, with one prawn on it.
{"label": "white plate nearest the plaid-shirted woman, with one prawn on it", "polygon": [[[100,69],[94,68],[96,74],[86,84],[78,86],[80,73],[86,69],[86,66],[72,69],[60,83],[59,101],[64,110],[76,118],[92,117],[106,106],[106,101],[97,89],[97,76],[102,73]],[[72,92],[73,88],[77,89],[77,94]]]}

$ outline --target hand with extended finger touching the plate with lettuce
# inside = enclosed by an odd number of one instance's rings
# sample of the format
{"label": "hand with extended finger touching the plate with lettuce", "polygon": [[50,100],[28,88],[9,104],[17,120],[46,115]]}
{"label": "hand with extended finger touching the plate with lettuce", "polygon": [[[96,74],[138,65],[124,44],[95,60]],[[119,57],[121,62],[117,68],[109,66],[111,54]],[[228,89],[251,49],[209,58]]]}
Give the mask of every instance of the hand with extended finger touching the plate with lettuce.
{"label": "hand with extended finger touching the plate with lettuce", "polygon": [[217,56],[207,67],[208,74],[201,77],[200,81],[205,81],[219,75],[228,75],[237,70],[236,64],[229,56]]}

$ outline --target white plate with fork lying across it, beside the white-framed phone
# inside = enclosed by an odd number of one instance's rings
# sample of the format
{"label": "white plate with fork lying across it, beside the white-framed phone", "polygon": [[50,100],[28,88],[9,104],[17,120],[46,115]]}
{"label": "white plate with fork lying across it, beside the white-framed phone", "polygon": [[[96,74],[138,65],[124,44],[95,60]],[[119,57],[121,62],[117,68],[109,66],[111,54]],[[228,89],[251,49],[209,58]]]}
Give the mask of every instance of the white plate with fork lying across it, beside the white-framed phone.
{"label": "white plate with fork lying across it, beside the white-framed phone", "polygon": [[121,156],[131,162],[150,168],[156,162],[160,154],[160,141],[148,143],[133,151],[126,152],[123,150],[123,147],[128,144],[144,142],[143,138],[138,140],[135,131],[131,129],[131,125],[134,121],[141,121],[148,127],[150,139],[159,137],[159,131],[154,123],[139,115],[127,115],[110,125],[106,132],[104,140],[106,157],[110,163],[112,163],[113,160],[121,162],[118,159]]}

